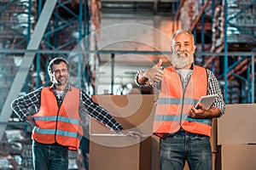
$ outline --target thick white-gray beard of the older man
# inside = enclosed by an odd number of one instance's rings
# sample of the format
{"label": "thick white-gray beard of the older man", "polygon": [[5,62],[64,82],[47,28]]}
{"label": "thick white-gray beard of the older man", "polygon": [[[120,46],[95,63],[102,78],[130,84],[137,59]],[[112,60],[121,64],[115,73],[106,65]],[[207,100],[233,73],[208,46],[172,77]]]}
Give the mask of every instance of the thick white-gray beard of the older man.
{"label": "thick white-gray beard of the older man", "polygon": [[193,54],[187,54],[187,58],[179,58],[179,54],[172,54],[172,65],[177,69],[183,69],[184,67],[191,65],[194,61]]}

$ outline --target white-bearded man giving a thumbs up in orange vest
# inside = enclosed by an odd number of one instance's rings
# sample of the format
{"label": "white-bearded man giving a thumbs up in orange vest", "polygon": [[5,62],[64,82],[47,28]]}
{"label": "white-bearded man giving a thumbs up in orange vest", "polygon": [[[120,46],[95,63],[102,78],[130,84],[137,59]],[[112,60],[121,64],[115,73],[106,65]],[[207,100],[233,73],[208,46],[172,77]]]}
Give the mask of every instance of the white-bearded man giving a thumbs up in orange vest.
{"label": "white-bearded man giving a thumbs up in orange vest", "polygon": [[[141,87],[160,90],[154,116],[154,134],[161,138],[160,169],[211,170],[210,144],[212,118],[224,114],[224,99],[212,71],[194,64],[194,36],[178,30],[172,37],[171,66],[162,68],[162,60],[147,71],[138,71]],[[204,95],[217,94],[210,109],[195,104]]]}

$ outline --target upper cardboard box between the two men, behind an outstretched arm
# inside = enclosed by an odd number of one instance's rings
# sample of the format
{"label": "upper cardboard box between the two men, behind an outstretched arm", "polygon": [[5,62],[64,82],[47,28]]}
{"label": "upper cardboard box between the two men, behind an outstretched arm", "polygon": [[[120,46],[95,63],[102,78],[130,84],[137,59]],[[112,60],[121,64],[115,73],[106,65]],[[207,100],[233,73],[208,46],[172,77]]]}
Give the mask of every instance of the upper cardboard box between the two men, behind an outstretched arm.
{"label": "upper cardboard box between the two men, behind an outstretched arm", "polygon": [[[125,129],[139,131],[144,136],[151,136],[154,122],[154,95],[93,95],[96,103],[102,105]],[[91,119],[90,134],[114,134],[102,123]]]}

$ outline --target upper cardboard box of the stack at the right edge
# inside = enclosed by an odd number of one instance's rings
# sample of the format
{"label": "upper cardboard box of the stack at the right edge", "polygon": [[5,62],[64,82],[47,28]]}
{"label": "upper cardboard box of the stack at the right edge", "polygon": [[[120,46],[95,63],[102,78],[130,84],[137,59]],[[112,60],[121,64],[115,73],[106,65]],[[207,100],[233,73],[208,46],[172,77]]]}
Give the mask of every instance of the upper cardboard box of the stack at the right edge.
{"label": "upper cardboard box of the stack at the right edge", "polygon": [[226,105],[218,119],[218,144],[256,144],[256,104]]}

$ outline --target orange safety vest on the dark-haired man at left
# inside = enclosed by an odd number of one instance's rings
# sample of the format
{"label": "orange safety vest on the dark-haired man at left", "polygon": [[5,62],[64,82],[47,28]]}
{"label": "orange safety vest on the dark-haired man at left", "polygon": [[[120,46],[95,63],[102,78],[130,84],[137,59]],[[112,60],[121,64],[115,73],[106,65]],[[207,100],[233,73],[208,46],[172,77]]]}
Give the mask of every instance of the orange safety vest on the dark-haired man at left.
{"label": "orange safety vest on the dark-haired man at left", "polygon": [[78,150],[83,136],[79,116],[80,91],[71,88],[58,107],[57,99],[51,88],[42,88],[40,110],[33,115],[36,122],[32,139],[42,144],[55,142],[67,146],[68,150]]}

